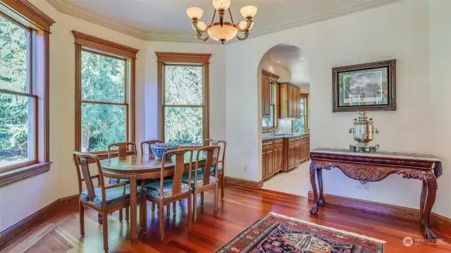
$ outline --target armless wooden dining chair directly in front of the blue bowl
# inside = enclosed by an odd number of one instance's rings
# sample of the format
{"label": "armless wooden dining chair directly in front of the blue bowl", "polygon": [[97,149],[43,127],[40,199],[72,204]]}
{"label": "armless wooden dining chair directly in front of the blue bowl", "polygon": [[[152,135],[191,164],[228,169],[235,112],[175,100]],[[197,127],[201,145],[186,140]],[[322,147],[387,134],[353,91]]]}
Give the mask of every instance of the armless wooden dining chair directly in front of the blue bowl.
{"label": "armless wooden dining chair directly in front of the blue bowl", "polygon": [[[173,204],[173,213],[175,214],[175,202],[182,199],[188,199],[188,226],[191,226],[192,214],[191,214],[191,187],[187,183],[182,182],[183,172],[185,171],[185,156],[189,161],[188,172],[191,179],[192,171],[192,149],[175,149],[168,152],[164,152],[163,157],[167,155],[175,155],[175,158],[162,159],[161,160],[161,173],[159,182],[149,183],[144,185],[144,190],[147,195],[147,200],[158,206],[159,209],[159,225],[160,225],[160,237],[164,238],[164,214],[163,208],[167,205],[168,215],[170,214],[170,204]],[[165,175],[168,173],[165,171],[166,163],[174,164],[173,178],[165,179]]]}

